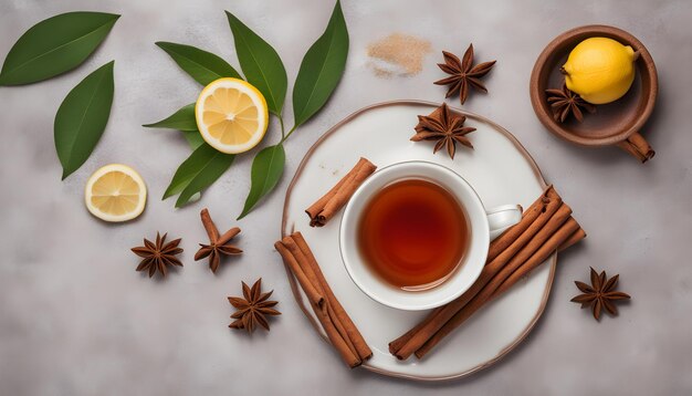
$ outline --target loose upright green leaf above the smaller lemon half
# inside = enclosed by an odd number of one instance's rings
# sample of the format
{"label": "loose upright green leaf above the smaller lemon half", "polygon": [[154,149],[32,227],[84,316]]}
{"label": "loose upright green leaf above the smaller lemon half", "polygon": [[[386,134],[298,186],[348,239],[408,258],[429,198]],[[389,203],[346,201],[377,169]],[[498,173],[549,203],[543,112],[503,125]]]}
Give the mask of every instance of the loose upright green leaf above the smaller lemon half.
{"label": "loose upright green leaf above the smaller lemon half", "polygon": [[113,104],[114,62],[82,80],[57,108],[53,129],[63,180],[86,161],[106,128]]}

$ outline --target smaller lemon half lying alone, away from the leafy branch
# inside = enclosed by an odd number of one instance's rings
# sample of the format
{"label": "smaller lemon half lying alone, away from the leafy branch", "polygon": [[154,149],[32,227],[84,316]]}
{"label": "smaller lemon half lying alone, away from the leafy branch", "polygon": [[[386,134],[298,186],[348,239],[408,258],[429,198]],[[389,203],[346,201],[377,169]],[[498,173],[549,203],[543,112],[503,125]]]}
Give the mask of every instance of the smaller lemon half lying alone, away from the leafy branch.
{"label": "smaller lemon half lying alone, away from the leafy branch", "polygon": [[144,210],[147,187],[135,169],[127,165],[111,164],[88,178],[84,200],[88,211],[102,220],[127,221]]}

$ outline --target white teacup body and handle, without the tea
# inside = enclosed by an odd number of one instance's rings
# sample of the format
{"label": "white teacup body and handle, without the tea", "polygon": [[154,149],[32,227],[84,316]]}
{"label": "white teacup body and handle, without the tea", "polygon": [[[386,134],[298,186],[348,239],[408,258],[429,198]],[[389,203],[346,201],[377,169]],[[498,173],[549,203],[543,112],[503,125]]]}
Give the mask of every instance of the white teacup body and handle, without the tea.
{"label": "white teacup body and handle, without the tea", "polygon": [[[402,179],[424,179],[444,187],[463,207],[471,231],[460,265],[444,282],[427,290],[408,291],[387,284],[364,262],[358,247],[363,209],[374,194]],[[486,210],[471,185],[449,168],[427,161],[395,164],[373,174],[348,201],[339,229],[342,259],[356,285],[373,300],[399,310],[428,310],[454,300],[471,288],[483,270],[490,241],[521,218],[518,205]]]}

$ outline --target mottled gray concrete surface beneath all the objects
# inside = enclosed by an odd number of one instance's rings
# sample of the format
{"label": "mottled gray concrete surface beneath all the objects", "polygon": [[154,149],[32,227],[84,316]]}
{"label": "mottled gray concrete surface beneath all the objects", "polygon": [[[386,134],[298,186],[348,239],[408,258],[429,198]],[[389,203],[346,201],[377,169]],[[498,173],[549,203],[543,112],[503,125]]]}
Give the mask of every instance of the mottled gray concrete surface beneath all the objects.
{"label": "mottled gray concrete surface beneath all the objects", "polygon": [[[195,44],[238,64],[223,10],[266,38],[293,81],[324,29],[332,1],[1,0],[0,54],[29,27],[71,10],[123,18],[82,67],[23,87],[0,88],[0,394],[2,395],[682,395],[692,392],[692,3],[688,1],[344,1],[350,31],[346,74],[333,100],[286,144],[285,176],[242,221],[251,156],[237,160],[200,202],[161,201],[188,155],[176,132],[141,124],[192,102],[200,87],[155,41]],[[647,165],[617,148],[585,149],[549,135],[528,100],[534,60],[554,35],[607,23],[637,35],[657,61],[660,98],[643,131],[657,150]],[[430,40],[434,53],[411,77],[376,77],[366,46],[391,32]],[[573,206],[589,237],[560,259],[545,315],[516,351],[462,381],[417,384],[348,371],[293,302],[272,243],[286,186],[311,144],[365,105],[397,98],[440,101],[441,50],[469,42],[497,59],[489,95],[464,108],[513,132]],[[83,76],[116,60],[111,121],[88,161],[65,181],[52,125],[62,98]],[[289,106],[291,101],[287,101]],[[453,101],[450,103],[454,103]],[[290,108],[287,114],[291,114]],[[290,118],[290,117],[289,117]],[[290,123],[290,122],[289,122]],[[265,139],[275,142],[274,125]],[[83,187],[113,161],[137,168],[150,198],[137,221],[108,226],[91,217]],[[243,229],[245,254],[214,277],[193,262],[205,239],[198,213]],[[135,272],[129,248],[157,230],[182,237],[185,268],[165,281]],[[633,300],[620,317],[596,323],[569,302],[588,268],[620,273]],[[227,329],[226,296],[263,277],[283,315],[252,337]]]}

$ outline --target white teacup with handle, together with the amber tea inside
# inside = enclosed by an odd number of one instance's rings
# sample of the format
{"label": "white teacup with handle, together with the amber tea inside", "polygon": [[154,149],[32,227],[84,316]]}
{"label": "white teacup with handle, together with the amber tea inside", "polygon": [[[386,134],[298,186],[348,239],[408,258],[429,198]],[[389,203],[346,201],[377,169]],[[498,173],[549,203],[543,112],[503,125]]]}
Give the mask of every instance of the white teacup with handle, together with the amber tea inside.
{"label": "white teacup with handle, together with the amber tea inside", "polygon": [[397,310],[430,310],[474,284],[490,241],[521,218],[518,205],[486,209],[452,169],[409,160],[380,168],[354,192],[339,226],[339,251],[370,299]]}

